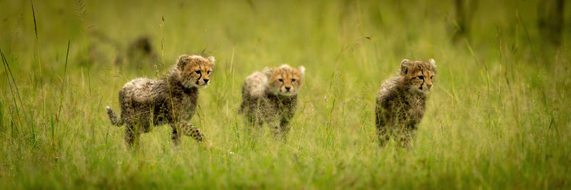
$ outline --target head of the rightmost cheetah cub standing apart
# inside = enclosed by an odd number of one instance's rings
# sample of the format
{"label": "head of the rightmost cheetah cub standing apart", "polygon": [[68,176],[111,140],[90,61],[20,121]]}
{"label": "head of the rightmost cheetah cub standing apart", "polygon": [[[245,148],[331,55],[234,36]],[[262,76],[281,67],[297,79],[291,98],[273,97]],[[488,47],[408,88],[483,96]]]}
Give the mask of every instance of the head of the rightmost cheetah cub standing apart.
{"label": "head of the rightmost cheetah cub standing apart", "polygon": [[433,59],[428,62],[420,60],[412,62],[405,59],[400,62],[400,76],[409,90],[429,93],[436,78],[436,63]]}

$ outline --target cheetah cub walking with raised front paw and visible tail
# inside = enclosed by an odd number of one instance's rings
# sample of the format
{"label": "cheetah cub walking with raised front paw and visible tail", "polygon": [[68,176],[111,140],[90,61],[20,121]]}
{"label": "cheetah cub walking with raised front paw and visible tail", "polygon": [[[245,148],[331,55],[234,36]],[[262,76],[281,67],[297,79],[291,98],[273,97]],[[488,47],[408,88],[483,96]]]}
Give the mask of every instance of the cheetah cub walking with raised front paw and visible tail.
{"label": "cheetah cub walking with raised front paw and visible tail", "polygon": [[206,88],[214,67],[214,58],[182,55],[165,78],[137,78],[119,91],[121,117],[107,107],[113,125],[126,124],[125,141],[129,146],[138,141],[141,132],[152,125],[171,125],[171,139],[178,144],[181,134],[198,142],[204,140],[200,129],[188,121],[196,111],[198,89]]}

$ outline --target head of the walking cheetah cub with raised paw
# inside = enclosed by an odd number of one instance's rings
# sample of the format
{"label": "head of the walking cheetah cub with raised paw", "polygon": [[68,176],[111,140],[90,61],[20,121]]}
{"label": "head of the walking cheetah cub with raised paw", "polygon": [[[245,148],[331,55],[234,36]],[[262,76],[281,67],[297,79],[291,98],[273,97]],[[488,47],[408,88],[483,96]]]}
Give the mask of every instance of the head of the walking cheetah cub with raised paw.
{"label": "head of the walking cheetah cub with raised paw", "polygon": [[214,57],[182,55],[176,61],[181,83],[186,88],[206,88],[214,67]]}

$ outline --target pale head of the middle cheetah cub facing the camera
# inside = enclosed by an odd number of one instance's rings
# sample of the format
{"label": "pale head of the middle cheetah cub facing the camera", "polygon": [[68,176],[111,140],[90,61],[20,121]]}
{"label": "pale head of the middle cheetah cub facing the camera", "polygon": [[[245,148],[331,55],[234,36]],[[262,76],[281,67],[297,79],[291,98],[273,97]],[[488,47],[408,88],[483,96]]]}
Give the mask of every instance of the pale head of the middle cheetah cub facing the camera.
{"label": "pale head of the middle cheetah cub facing the camera", "polygon": [[297,95],[303,82],[305,68],[292,68],[290,65],[281,65],[279,68],[265,68],[263,73],[268,77],[268,90],[273,95]]}

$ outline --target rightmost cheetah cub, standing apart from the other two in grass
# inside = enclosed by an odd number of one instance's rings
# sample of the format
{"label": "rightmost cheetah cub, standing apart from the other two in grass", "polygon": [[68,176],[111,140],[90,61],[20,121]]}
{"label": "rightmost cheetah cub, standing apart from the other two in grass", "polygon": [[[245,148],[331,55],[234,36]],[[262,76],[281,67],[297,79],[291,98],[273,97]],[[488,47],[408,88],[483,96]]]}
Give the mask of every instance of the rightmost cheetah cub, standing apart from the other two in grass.
{"label": "rightmost cheetah cub, standing apart from the other two in grass", "polygon": [[410,137],[423,119],[426,97],[435,75],[433,59],[428,62],[405,59],[400,62],[400,74],[383,83],[375,110],[380,144],[393,136],[400,145],[410,145]]}

